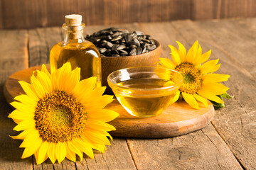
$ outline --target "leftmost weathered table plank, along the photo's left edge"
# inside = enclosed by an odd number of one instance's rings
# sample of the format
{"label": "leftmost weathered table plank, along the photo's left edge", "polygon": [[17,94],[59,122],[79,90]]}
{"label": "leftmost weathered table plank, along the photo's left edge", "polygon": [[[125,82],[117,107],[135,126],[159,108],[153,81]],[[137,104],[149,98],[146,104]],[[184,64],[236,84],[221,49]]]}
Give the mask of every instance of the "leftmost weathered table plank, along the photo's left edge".
{"label": "leftmost weathered table plank, along the photo's left edge", "polygon": [[28,33],[26,30],[0,30],[0,169],[32,169],[31,158],[21,159],[23,149],[20,140],[12,140],[9,135],[17,135],[12,130],[16,123],[7,118],[11,113],[6,103],[3,86],[7,77],[28,67]]}

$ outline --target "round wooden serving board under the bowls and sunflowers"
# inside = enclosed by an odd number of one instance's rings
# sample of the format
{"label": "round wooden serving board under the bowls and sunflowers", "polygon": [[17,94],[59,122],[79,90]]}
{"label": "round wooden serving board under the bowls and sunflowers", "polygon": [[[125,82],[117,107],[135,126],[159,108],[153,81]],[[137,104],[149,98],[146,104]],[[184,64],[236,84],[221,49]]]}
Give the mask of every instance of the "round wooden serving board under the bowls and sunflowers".
{"label": "round wooden serving board under the bowls and sunflowers", "polygon": [[[11,103],[15,96],[24,94],[18,81],[30,82],[30,77],[36,69],[41,69],[41,66],[23,69],[7,79],[4,86],[4,96],[8,103]],[[121,137],[160,138],[184,135],[204,128],[210,123],[215,113],[213,105],[209,101],[208,108],[199,110],[191,108],[185,102],[177,102],[166,108],[161,115],[152,118],[137,118],[129,115],[117,100],[114,100],[106,108],[120,114],[118,118],[110,122],[117,128],[110,134]]]}

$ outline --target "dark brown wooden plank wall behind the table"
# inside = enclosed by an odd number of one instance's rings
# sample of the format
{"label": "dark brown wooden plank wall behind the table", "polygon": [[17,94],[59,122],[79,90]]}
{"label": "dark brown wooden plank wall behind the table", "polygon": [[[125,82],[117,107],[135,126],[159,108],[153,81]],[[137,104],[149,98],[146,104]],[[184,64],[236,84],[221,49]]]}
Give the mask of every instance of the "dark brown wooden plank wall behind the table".
{"label": "dark brown wooden plank wall behind the table", "polygon": [[61,26],[70,13],[87,26],[115,23],[247,18],[256,0],[0,0],[0,28]]}

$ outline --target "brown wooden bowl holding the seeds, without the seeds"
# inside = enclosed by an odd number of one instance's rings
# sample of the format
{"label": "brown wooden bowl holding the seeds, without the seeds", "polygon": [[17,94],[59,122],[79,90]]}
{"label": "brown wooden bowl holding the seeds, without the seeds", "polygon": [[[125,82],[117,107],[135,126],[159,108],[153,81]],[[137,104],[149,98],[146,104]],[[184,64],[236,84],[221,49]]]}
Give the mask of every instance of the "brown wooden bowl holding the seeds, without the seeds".
{"label": "brown wooden bowl holding the seeds, without the seeds", "polygon": [[102,86],[107,86],[105,94],[113,94],[112,89],[107,84],[107,76],[117,69],[124,69],[127,67],[142,67],[142,66],[156,66],[161,55],[161,45],[158,41],[156,49],[146,52],[142,55],[133,55],[125,57],[101,57],[102,60]]}

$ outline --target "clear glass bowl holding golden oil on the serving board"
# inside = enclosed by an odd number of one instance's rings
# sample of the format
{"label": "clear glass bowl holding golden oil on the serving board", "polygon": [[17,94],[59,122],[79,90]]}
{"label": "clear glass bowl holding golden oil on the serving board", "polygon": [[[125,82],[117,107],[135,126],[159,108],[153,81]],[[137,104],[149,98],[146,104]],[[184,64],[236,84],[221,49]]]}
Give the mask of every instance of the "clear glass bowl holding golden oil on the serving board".
{"label": "clear glass bowl holding golden oil on the serving board", "polygon": [[140,118],[161,114],[172,103],[182,81],[179,72],[161,67],[119,69],[107,77],[119,103]]}

